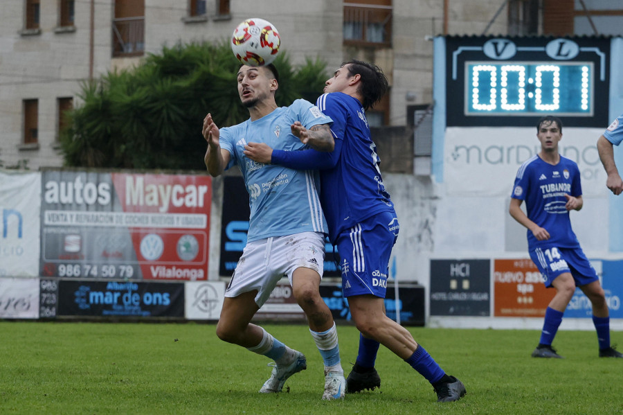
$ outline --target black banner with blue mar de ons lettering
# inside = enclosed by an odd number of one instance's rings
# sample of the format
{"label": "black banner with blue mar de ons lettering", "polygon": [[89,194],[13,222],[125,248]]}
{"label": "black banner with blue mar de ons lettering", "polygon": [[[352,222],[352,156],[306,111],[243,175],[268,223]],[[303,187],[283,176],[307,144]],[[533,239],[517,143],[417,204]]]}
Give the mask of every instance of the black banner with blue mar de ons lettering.
{"label": "black banner with blue mar de ons lettering", "polygon": [[184,317],[184,285],[62,280],[57,316]]}

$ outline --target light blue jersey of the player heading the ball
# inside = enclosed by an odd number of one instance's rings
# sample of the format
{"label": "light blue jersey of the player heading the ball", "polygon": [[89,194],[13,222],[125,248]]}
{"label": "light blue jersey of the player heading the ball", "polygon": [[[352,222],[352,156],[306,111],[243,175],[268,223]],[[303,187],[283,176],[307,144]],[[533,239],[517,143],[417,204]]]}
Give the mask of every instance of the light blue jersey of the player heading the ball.
{"label": "light blue jersey of the player heading the ball", "polygon": [[306,100],[296,100],[259,120],[249,119],[220,130],[221,148],[231,154],[226,169],[240,167],[249,191],[249,242],[307,231],[327,233],[317,192],[320,185],[317,171],[256,163],[243,154],[244,145],[249,142],[267,143],[272,148],[289,151],[306,148],[291,133],[290,125],[294,121],[307,128],[332,123],[318,107]]}

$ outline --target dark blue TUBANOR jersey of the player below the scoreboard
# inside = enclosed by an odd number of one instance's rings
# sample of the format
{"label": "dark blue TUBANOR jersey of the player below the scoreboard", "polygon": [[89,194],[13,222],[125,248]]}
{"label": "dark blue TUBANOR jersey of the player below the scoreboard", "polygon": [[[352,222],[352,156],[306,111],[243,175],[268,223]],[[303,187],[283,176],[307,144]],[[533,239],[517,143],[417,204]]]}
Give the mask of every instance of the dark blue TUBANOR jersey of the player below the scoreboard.
{"label": "dark blue TUBANOR jersey of the player below the scoreboard", "polygon": [[577,164],[560,157],[556,166],[534,155],[525,161],[517,172],[511,197],[525,200],[527,217],[550,233],[548,240],[536,240],[527,231],[528,248],[559,247],[579,248],[579,242],[571,229],[569,211],[565,208],[565,195],[582,195],[580,173]]}

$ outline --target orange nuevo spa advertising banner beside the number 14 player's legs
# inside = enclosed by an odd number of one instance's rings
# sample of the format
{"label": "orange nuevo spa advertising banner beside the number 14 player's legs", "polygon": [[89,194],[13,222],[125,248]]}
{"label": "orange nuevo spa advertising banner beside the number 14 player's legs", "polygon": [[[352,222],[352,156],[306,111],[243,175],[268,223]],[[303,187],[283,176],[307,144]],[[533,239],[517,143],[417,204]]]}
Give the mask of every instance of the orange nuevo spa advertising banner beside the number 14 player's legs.
{"label": "orange nuevo spa advertising banner beside the number 14 player's legs", "polygon": [[494,260],[494,317],[544,317],[554,294],[530,258]]}

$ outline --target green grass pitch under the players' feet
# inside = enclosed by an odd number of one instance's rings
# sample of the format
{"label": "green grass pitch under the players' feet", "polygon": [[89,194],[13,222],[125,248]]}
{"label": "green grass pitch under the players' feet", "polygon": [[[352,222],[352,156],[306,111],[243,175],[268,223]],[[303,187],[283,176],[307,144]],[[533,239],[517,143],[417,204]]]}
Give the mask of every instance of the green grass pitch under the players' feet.
{"label": "green grass pitch under the players' feet", "polygon": [[[537,330],[408,328],[467,396],[436,402],[422,376],[381,346],[381,389],[325,402],[323,364],[305,325],[265,324],[303,351],[281,394],[258,390],[266,357],[226,344],[214,324],[0,322],[0,414],[622,414],[623,360],[597,357],[594,331],[561,331],[564,360],[530,353]],[[350,372],[359,344],[338,325]],[[613,342],[623,339],[612,333]]]}

